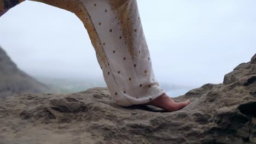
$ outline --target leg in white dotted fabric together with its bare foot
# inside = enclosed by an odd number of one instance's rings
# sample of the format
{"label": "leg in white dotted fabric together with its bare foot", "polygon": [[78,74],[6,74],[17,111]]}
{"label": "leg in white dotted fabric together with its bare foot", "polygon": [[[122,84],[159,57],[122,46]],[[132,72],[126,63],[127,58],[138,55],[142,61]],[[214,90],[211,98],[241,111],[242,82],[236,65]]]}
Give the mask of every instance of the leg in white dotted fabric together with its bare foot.
{"label": "leg in white dotted fabric together with its bare foot", "polygon": [[102,57],[96,56],[109,93],[117,104],[153,105],[176,111],[190,103],[174,102],[159,87],[136,1],[85,1],[84,4],[103,44],[102,51],[108,64],[104,65]]}

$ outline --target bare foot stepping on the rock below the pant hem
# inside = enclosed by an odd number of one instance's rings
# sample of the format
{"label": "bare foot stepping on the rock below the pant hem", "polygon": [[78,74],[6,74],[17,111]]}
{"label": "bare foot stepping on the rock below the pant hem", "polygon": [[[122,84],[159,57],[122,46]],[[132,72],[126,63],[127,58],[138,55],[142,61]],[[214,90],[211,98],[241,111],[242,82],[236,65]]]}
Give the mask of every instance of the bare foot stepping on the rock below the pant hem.
{"label": "bare foot stepping on the rock below the pant hem", "polygon": [[189,100],[176,103],[170,97],[168,97],[166,93],[164,93],[160,97],[152,101],[149,101],[149,103],[138,104],[138,105],[153,105],[156,107],[160,107],[161,109],[164,109],[168,112],[171,112],[171,111],[181,110],[183,109],[183,107],[187,106],[188,104],[190,104]]}

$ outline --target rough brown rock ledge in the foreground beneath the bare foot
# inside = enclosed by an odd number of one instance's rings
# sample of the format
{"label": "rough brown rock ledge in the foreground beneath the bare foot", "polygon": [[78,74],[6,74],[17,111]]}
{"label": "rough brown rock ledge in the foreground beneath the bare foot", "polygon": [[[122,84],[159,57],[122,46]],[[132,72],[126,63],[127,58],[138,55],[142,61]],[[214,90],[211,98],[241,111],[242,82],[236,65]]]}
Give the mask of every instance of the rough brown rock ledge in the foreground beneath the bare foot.
{"label": "rough brown rock ledge in the foreground beneath the bare foot", "polygon": [[256,55],[220,84],[192,89],[176,112],[123,107],[106,87],[0,100],[0,143],[256,143]]}

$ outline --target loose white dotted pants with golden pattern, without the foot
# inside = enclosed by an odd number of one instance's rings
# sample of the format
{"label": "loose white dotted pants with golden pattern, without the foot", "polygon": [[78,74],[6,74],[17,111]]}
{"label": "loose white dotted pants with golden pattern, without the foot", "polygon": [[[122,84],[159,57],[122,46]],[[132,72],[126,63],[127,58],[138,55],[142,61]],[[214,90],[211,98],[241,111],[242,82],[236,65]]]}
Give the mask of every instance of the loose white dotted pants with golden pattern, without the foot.
{"label": "loose white dotted pants with golden pattern, without the foot", "polygon": [[154,76],[136,0],[33,1],[66,9],[82,20],[118,105],[148,103],[165,93]]}

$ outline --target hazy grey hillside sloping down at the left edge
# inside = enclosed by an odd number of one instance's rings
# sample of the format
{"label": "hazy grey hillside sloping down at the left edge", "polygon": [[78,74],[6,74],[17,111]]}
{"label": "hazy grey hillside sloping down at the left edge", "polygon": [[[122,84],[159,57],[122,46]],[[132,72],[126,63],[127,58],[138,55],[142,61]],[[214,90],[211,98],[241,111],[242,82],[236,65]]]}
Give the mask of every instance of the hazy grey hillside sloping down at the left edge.
{"label": "hazy grey hillside sloping down at the left edge", "polygon": [[0,98],[21,92],[43,93],[50,88],[19,70],[0,47]]}

